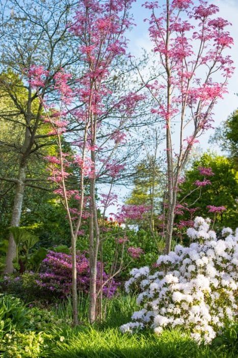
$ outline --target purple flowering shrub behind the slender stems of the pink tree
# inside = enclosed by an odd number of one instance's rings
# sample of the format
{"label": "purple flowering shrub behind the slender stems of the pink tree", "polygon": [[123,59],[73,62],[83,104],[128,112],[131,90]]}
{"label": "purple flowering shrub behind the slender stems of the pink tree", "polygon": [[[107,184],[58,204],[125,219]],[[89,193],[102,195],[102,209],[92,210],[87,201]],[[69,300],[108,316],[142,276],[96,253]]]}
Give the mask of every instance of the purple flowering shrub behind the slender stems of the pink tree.
{"label": "purple flowering shrub behind the slender stems of the pink tree", "polygon": [[[84,293],[89,292],[90,283],[90,269],[88,258],[77,252],[76,255],[77,268],[77,287],[78,290]],[[65,253],[57,253],[48,251],[46,258],[42,261],[39,277],[36,279],[36,284],[47,293],[54,296],[64,298],[71,294],[72,287],[72,256]],[[101,263],[97,263],[97,288],[100,287],[100,272]],[[102,284],[109,279],[104,271],[102,271]],[[115,280],[109,280],[103,288],[104,296],[112,297],[118,287]]]}

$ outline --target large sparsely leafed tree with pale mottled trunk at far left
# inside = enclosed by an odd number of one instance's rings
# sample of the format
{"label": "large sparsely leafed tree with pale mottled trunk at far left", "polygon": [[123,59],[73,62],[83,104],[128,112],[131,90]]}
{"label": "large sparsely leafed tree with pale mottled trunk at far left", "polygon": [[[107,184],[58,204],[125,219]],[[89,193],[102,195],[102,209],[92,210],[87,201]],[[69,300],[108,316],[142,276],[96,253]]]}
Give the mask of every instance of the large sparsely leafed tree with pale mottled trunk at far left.
{"label": "large sparsely leafed tree with pale mottled trunk at far left", "polygon": [[[37,65],[42,66],[41,70],[45,68],[42,73],[45,81],[41,79],[39,91],[42,98],[52,98],[54,75],[60,68],[73,71],[73,66],[80,60],[75,37],[66,29],[72,6],[73,2],[59,0],[10,0],[2,4],[1,95],[11,98],[13,106],[2,107],[0,116],[4,121],[15,123],[22,133],[17,143],[11,138],[0,142],[2,148],[14,149],[18,163],[16,175],[1,177],[15,185],[11,226],[19,226],[25,186],[40,187],[37,175],[30,175],[30,158],[34,155],[41,158],[44,147],[55,144],[51,135],[41,131],[43,107],[34,91],[35,69]],[[27,84],[28,76],[31,80]],[[15,243],[10,235],[6,272],[13,271],[15,254]]]}

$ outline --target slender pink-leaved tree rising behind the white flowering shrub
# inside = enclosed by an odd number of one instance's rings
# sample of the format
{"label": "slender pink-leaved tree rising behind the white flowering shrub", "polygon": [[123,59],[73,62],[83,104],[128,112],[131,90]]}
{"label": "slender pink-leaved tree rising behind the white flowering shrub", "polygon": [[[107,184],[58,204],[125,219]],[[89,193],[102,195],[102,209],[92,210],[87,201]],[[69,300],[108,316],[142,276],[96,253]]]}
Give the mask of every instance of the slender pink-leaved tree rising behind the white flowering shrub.
{"label": "slender pink-leaved tree rising behind the white flowering shrub", "polygon": [[[144,6],[152,12],[150,38],[153,51],[158,54],[158,68],[164,69],[164,81],[147,84],[147,88],[157,103],[151,112],[164,119],[166,128],[165,237],[169,253],[179,177],[197,138],[211,127],[214,105],[227,91],[233,61],[223,53],[233,40],[226,31],[228,21],[214,17],[218,7],[205,1],[200,0],[199,5],[194,6],[192,0],[166,0],[158,16],[155,14],[159,8],[157,2],[146,2]],[[178,151],[173,128],[179,133]]]}

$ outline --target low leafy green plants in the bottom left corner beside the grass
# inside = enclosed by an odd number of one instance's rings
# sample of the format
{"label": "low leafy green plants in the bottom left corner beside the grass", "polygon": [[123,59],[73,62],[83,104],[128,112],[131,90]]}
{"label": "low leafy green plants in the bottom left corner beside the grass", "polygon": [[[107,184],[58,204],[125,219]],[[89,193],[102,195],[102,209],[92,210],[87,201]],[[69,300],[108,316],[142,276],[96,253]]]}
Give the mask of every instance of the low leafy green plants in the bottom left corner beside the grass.
{"label": "low leafy green plants in the bottom left corner beside the grass", "polygon": [[[69,323],[46,309],[26,308],[18,299],[0,299],[0,356],[31,358],[49,356],[49,347],[60,342],[61,331]],[[57,329],[58,328],[58,329]],[[54,334],[52,334],[54,332]]]}

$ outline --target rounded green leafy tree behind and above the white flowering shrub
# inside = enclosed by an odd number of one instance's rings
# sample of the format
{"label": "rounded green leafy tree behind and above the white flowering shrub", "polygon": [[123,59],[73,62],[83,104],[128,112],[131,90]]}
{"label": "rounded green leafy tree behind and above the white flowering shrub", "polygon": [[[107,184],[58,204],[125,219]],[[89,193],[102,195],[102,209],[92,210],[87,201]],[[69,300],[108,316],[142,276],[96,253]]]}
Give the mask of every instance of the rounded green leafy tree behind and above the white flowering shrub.
{"label": "rounded green leafy tree behind and above the white flowering shrub", "polygon": [[[198,167],[210,167],[215,174],[208,177],[211,185],[202,187],[200,197],[199,189],[191,193],[196,188],[194,182],[196,180],[203,180],[203,177],[199,175]],[[193,163],[192,168],[185,173],[185,181],[180,185],[182,192],[178,193],[178,202],[182,197],[191,193],[186,197],[184,202],[190,206],[196,200],[195,204],[192,205],[192,207],[199,208],[195,213],[196,216],[208,216],[211,219],[213,219],[214,214],[208,214],[208,205],[225,206],[226,211],[216,217],[217,225],[219,227],[231,227],[235,229],[238,226],[236,203],[238,197],[237,179],[237,172],[228,158],[210,152],[204,153],[199,160]],[[188,218],[190,218],[189,214],[184,212],[182,219],[186,220]],[[177,220],[181,220],[181,216],[178,216]]]}

